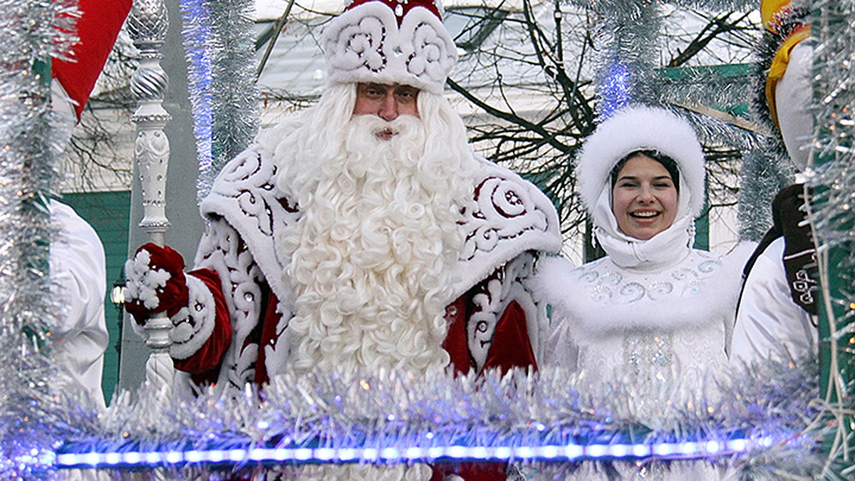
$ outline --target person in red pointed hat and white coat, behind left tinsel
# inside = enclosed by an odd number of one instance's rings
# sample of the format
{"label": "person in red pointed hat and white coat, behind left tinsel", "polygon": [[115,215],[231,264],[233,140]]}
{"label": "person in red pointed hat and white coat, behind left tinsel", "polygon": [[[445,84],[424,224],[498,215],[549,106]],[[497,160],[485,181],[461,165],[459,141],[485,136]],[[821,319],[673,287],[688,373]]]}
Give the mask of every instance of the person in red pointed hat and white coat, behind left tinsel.
{"label": "person in red pointed hat and white coat, behind left tinsel", "polygon": [[[51,62],[51,108],[57,151],[65,150],[122,24],[131,0],[80,0],[75,24],[79,41],[69,58]],[[50,286],[61,306],[51,330],[56,378],[51,387],[97,411],[105,409],[101,379],[109,335],[104,320],[107,270],[95,229],[68,205],[50,200]],[[79,473],[68,478],[77,478]]]}

